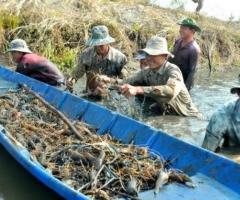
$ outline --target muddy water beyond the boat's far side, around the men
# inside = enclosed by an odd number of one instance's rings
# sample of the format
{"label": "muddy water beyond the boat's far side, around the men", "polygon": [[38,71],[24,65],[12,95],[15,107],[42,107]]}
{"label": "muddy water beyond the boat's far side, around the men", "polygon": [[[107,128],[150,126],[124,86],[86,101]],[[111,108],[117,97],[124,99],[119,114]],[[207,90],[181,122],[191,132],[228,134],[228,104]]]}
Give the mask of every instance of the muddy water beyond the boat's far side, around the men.
{"label": "muddy water beyond the boat's far side, around the men", "polygon": [[[201,146],[206,126],[213,112],[237,98],[230,94],[230,88],[236,84],[238,74],[240,74],[239,68],[222,69],[214,71],[211,75],[209,75],[208,69],[200,69],[197,72],[196,84],[190,93],[194,104],[204,115],[204,119],[146,114],[137,99],[126,99],[116,91],[111,91],[110,97],[97,101],[97,103],[161,129],[183,141]],[[84,81],[84,79],[80,80],[75,88],[80,96],[83,95],[79,91],[83,89]],[[147,108],[145,107],[145,109]],[[227,150],[223,154],[240,161],[239,150]]]}

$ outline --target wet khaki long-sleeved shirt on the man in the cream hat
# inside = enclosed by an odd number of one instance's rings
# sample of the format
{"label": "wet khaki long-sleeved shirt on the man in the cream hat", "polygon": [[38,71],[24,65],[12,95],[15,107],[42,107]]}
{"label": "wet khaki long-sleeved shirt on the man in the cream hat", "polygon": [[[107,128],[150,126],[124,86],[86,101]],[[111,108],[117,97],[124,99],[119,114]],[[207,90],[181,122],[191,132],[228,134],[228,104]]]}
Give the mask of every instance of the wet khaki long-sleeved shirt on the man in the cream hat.
{"label": "wet khaki long-sleeved shirt on the man in the cream hat", "polygon": [[180,69],[174,64],[165,62],[158,71],[143,69],[126,82],[143,86],[145,96],[153,98],[161,106],[170,107],[172,114],[201,116],[192,103]]}

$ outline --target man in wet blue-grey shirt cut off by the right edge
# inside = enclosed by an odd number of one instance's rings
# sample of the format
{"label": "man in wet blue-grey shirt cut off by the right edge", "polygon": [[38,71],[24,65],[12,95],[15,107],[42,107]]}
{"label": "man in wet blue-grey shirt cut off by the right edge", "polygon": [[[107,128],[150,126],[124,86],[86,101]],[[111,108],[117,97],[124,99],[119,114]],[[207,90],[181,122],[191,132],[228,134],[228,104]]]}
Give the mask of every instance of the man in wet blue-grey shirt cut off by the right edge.
{"label": "man in wet blue-grey shirt cut off by the right edge", "polygon": [[203,148],[218,151],[224,146],[240,146],[240,85],[231,89],[237,100],[216,111],[207,126]]}

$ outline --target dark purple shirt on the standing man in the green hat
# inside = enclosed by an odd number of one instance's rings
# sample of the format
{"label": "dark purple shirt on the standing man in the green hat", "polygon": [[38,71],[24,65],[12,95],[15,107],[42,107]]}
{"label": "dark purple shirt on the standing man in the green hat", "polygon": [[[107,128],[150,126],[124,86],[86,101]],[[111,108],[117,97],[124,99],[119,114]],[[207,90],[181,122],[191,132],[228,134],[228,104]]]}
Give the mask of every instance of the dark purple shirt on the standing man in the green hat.
{"label": "dark purple shirt on the standing man in the green hat", "polygon": [[194,74],[201,50],[195,40],[185,46],[182,46],[182,42],[181,38],[176,40],[172,52],[174,58],[170,59],[170,62],[180,68],[186,87],[190,90],[194,84]]}

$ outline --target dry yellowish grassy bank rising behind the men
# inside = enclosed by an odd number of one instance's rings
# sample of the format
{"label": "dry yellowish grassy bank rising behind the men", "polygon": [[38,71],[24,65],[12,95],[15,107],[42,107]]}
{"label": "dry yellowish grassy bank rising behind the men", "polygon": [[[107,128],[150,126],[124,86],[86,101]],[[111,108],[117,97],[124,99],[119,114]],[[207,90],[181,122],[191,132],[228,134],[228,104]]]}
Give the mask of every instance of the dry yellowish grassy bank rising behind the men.
{"label": "dry yellowish grassy bank rising behind the men", "polygon": [[203,29],[196,36],[201,64],[207,55],[213,66],[240,66],[240,24],[206,18],[194,13],[163,9],[146,0],[9,0],[1,3],[0,41],[4,51],[14,38],[25,39],[30,48],[50,58],[64,71],[74,66],[76,53],[84,48],[92,26],[105,24],[117,39],[117,48],[131,58],[149,37],[166,33],[169,47],[178,36],[176,21],[195,18]]}

